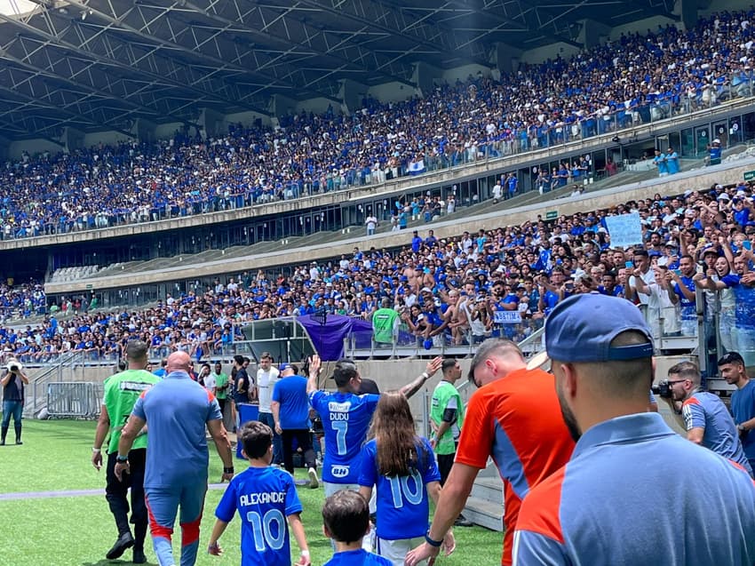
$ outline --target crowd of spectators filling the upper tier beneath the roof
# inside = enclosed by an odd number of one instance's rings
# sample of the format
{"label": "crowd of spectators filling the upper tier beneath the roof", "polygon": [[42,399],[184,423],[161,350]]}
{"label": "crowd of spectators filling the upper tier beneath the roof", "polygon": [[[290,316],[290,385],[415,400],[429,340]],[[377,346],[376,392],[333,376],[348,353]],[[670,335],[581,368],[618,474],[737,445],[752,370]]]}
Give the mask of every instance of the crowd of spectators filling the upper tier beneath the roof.
{"label": "crowd of spectators filling the upper tier beneath the roof", "polygon": [[[425,98],[364,100],[351,116],[282,118],[202,139],[23,155],[0,172],[0,235],[114,226],[296,198],[481,157],[559,144],[751,93],[755,12],[721,12],[688,31],[645,36],[470,77]],[[664,148],[665,150],[665,148]],[[562,163],[552,179],[584,174]]]}

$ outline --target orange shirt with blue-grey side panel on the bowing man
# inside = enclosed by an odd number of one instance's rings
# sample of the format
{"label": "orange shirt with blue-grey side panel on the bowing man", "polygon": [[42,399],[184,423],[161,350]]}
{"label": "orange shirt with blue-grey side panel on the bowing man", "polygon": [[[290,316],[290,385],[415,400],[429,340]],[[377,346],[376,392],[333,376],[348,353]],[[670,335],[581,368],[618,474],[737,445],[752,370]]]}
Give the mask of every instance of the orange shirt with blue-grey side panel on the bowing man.
{"label": "orange shirt with blue-grey side panel on the bowing man", "polygon": [[457,464],[482,469],[492,457],[504,482],[504,554],[512,563],[521,500],[564,466],[574,441],[561,417],[553,376],[517,370],[474,392],[466,407]]}

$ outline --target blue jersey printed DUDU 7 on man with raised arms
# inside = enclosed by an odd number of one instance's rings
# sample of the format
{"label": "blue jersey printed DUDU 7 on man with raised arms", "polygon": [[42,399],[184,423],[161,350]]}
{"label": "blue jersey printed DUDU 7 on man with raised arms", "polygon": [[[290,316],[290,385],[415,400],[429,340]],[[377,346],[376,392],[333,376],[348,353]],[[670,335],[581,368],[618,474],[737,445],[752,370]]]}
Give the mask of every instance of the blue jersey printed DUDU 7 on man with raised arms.
{"label": "blue jersey printed DUDU 7 on man with raised arms", "polygon": [[362,471],[362,445],[380,395],[314,391],[309,403],[322,419],[325,458],[322,481],[356,483]]}

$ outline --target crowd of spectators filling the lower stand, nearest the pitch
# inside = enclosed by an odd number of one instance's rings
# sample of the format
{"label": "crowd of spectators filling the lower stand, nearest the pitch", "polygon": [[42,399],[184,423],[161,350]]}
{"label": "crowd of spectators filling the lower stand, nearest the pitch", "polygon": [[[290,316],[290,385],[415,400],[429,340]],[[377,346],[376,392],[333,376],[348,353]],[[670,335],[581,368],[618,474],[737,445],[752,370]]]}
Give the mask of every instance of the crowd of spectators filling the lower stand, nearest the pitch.
{"label": "crowd of spectators filling the lower stand, nearest the pitch", "polygon": [[[643,243],[612,247],[606,219],[631,211]],[[398,313],[396,330],[412,342],[464,345],[496,334],[522,339],[560,300],[582,292],[644,305],[656,335],[684,335],[696,331],[688,322],[699,287],[708,320],[719,316],[724,347],[746,353],[755,351],[753,245],[751,185],[718,186],[445,239],[415,232],[398,250],[355,248],[290,275],[274,267],[243,273],[141,310],[104,312],[64,299],[54,307],[73,316],[0,327],[0,348],[28,363],[72,350],[115,360],[139,338],[155,357],[184,350],[204,360],[227,355],[251,321],[318,312],[370,320],[380,307]]]}

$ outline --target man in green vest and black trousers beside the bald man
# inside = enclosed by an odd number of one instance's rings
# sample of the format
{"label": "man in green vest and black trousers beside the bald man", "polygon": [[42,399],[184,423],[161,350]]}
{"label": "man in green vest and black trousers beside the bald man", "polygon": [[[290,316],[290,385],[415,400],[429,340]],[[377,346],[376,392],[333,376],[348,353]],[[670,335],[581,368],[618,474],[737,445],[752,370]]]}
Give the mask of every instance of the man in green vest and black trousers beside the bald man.
{"label": "man in green vest and black trousers beside the bald man", "polygon": [[[139,395],[160,380],[146,369],[148,348],[147,343],[142,340],[131,340],[126,345],[128,369],[105,380],[102,408],[99,412],[97,431],[94,434],[94,444],[91,447],[91,463],[99,470],[102,467],[102,443],[105,442],[109,431],[105,498],[110,506],[110,513],[115,517],[118,539],[107,552],[107,560],[119,558],[127,548],[133,546],[131,562],[135,564],[147,562],[144,555],[144,538],[147,536],[147,505],[144,501],[143,485],[147,459],[146,427],[136,438],[129,452],[131,471],[123,475],[123,482],[115,477],[115,457],[118,455],[118,441],[121,439],[123,425],[129,419]],[[129,527],[129,502],[126,498],[129,488],[131,488],[131,522],[134,524],[133,536]]]}

